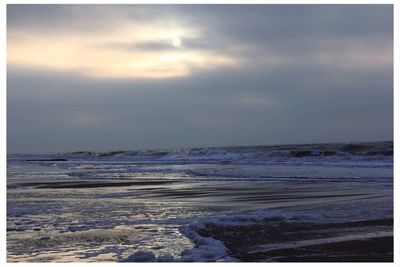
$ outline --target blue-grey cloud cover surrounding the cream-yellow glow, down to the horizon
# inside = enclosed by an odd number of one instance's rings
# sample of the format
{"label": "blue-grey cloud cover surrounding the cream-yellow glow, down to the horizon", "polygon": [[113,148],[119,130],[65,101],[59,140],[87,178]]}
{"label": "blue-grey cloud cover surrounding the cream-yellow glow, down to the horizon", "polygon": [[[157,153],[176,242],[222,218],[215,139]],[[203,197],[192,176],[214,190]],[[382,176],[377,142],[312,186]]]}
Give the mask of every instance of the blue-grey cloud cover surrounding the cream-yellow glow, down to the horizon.
{"label": "blue-grey cloud cover surrounding the cream-yellow glow, down to the horizon", "polygon": [[[82,18],[86,7],[74,11],[79,16],[54,8],[13,6],[8,30],[29,21],[35,23],[28,28],[51,32],[47,24],[59,21],[71,29],[65,22],[73,16],[74,30],[110,27],[96,26],[95,14],[104,11],[88,8]],[[134,9],[110,9],[106,21],[135,12],[138,20],[176,16],[205,33],[182,38],[184,49],[226,51],[245,61],[153,80],[8,66],[9,153],[393,139],[391,6]],[[88,27],[80,28],[82,21]],[[174,50],[162,42],[110,45]]]}

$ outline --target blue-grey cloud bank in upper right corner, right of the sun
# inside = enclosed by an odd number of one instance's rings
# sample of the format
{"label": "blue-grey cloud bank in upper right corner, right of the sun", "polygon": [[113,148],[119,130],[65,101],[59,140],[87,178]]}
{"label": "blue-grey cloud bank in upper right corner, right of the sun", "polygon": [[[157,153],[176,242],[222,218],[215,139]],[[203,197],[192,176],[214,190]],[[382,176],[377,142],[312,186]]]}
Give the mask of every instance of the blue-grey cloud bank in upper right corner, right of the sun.
{"label": "blue-grey cloud bank in upper right corner, right of the sun", "polygon": [[221,5],[178,8],[182,14],[191,14],[191,23],[206,29],[214,45],[225,49],[232,44],[247,45],[251,49],[243,53],[252,58],[263,52],[306,57],[319,50],[342,50],[346,44],[378,43],[374,48],[387,49],[382,43],[391,46],[393,40],[390,5],[253,5],[245,9]]}

